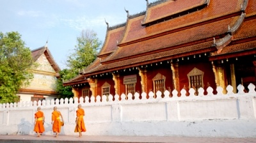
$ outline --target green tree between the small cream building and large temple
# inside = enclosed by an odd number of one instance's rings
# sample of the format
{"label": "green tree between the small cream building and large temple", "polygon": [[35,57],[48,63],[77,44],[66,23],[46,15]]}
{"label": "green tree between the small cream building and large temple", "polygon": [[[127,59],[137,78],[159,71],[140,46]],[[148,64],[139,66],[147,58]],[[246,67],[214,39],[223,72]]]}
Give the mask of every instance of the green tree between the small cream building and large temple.
{"label": "green tree between the small cream building and large temple", "polygon": [[60,72],[57,86],[57,91],[60,94],[59,98],[74,96],[72,87],[64,87],[63,81],[76,77],[80,70],[90,65],[96,59],[100,45],[101,42],[97,38],[97,33],[92,30],[82,31],[81,36],[77,37],[74,52],[67,59],[66,64],[69,68]]}

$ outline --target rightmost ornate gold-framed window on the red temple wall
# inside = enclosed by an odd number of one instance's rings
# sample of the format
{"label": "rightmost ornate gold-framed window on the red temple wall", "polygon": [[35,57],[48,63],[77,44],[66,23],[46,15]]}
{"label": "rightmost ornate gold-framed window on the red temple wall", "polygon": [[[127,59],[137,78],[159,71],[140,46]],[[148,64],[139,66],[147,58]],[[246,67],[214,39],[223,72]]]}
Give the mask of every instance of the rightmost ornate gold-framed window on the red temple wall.
{"label": "rightmost ornate gold-framed window on the red temple wall", "polygon": [[204,87],[203,77],[204,72],[198,70],[198,68],[193,68],[193,70],[188,73],[189,89],[195,89],[195,95],[198,95],[198,89],[200,87]]}

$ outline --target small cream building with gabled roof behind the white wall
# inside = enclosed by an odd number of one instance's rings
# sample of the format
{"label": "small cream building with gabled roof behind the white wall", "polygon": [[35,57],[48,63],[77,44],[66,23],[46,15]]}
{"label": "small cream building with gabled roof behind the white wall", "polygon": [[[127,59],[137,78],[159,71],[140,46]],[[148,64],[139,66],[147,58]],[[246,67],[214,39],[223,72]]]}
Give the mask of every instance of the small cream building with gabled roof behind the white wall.
{"label": "small cream building with gabled roof behind the white wall", "polygon": [[17,94],[20,102],[38,102],[38,100],[58,98],[56,81],[59,77],[60,68],[55,63],[47,45],[31,50],[31,54],[37,66],[31,68],[34,78],[30,81],[30,85],[21,87]]}

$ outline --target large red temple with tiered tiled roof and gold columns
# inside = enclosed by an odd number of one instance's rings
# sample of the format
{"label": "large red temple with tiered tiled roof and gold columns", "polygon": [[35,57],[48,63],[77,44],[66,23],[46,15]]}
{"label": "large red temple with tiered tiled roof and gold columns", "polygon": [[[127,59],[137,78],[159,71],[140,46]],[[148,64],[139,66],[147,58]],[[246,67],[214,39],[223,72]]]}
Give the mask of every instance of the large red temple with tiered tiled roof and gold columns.
{"label": "large red temple with tiered tiled roof and gold columns", "polygon": [[124,24],[106,22],[97,59],[63,83],[74,97],[256,84],[255,1],[160,0],[125,11]]}

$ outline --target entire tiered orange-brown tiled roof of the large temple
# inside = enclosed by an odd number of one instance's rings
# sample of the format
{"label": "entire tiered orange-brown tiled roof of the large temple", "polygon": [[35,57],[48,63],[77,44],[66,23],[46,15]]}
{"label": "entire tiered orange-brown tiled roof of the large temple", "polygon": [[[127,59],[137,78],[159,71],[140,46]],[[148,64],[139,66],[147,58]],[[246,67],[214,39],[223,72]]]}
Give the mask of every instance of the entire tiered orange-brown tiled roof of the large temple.
{"label": "entire tiered orange-brown tiled roof of the large temple", "polygon": [[83,74],[88,77],[207,52],[212,60],[254,50],[255,11],[256,4],[248,0],[160,0],[148,4],[145,13],[132,17],[128,13],[123,26],[108,30],[98,58]]}

